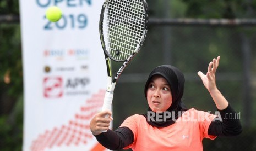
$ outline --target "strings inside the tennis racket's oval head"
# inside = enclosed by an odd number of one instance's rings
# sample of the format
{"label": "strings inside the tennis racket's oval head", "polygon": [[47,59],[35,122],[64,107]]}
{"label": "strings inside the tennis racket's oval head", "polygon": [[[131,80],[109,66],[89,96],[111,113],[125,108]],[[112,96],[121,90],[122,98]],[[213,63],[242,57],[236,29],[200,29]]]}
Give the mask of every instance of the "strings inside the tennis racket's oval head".
{"label": "strings inside the tennis racket's oval head", "polygon": [[108,1],[103,22],[106,50],[117,60],[126,60],[138,49],[145,26],[141,1]]}

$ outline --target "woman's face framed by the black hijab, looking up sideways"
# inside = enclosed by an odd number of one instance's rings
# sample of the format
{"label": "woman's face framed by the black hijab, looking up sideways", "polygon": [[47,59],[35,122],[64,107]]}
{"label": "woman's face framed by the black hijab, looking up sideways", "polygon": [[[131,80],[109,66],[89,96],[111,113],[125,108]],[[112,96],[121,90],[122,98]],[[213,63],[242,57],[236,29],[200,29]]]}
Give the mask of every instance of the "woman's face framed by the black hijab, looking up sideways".
{"label": "woman's face framed by the black hijab, looking up sideways", "polygon": [[146,99],[152,111],[166,111],[172,104],[171,88],[165,78],[161,75],[152,77],[148,90],[146,91]]}

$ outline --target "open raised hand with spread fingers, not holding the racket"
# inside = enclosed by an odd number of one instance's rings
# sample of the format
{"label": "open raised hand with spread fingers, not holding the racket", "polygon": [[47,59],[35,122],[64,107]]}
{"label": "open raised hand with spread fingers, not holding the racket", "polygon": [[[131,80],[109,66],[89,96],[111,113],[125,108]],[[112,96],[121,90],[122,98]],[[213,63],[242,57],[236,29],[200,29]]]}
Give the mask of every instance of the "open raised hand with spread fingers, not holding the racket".
{"label": "open raised hand with spread fingers, not holding the racket", "polygon": [[206,74],[204,74],[201,71],[198,72],[199,77],[203,81],[203,84],[208,91],[216,89],[215,73],[219,66],[219,62],[220,62],[220,56],[218,56],[217,59],[214,58],[213,61],[209,63],[208,71]]}

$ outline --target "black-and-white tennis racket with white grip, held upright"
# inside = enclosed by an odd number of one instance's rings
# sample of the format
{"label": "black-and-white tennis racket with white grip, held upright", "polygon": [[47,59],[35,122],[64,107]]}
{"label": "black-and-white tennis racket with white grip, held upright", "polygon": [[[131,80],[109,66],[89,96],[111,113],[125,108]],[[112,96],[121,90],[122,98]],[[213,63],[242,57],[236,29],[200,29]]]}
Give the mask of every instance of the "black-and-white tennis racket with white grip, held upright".
{"label": "black-and-white tennis racket with white grip, held upright", "polygon": [[[146,37],[148,4],[145,0],[105,0],[100,15],[100,39],[107,64],[108,83],[102,111],[111,110],[119,75],[138,53]],[[112,80],[110,59],[124,62]]]}

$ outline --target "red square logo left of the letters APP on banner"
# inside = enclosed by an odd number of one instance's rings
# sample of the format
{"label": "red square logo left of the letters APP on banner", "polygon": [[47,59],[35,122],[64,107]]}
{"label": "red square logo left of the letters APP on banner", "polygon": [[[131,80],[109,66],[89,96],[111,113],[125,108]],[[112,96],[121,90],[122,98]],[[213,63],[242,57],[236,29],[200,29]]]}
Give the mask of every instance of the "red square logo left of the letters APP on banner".
{"label": "red square logo left of the letters APP on banner", "polygon": [[60,98],[63,96],[62,77],[46,77],[43,79],[43,96]]}

